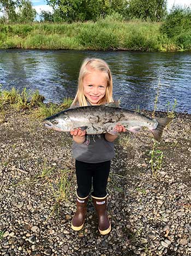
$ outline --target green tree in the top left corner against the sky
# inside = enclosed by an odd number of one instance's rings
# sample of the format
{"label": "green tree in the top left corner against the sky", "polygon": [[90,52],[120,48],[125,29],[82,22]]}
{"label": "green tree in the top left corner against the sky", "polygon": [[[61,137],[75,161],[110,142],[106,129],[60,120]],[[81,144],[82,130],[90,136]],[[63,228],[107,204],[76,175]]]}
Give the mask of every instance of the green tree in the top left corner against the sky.
{"label": "green tree in the top left corner against the sky", "polygon": [[5,21],[16,18],[15,8],[21,5],[21,0],[0,0],[0,11],[4,13]]}

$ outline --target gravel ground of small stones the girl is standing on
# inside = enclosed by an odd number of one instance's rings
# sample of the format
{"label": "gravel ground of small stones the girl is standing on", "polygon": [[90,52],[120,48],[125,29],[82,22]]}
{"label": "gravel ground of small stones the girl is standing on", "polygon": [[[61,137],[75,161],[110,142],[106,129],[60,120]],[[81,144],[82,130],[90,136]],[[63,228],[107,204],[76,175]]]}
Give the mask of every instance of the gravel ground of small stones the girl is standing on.
{"label": "gravel ground of small stones the girl is standing on", "polygon": [[108,183],[112,231],[102,236],[91,199],[83,229],[70,228],[76,180],[69,135],[45,129],[29,112],[6,110],[0,255],[191,255],[190,121],[191,115],[176,113],[164,130],[156,145],[164,154],[157,179],[149,163],[152,135],[120,135]]}

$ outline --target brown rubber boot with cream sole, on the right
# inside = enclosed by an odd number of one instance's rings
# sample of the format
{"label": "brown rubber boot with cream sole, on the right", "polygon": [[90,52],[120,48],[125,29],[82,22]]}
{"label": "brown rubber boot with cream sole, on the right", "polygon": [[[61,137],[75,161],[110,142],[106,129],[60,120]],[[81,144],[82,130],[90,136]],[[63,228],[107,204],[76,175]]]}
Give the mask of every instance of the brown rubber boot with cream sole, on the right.
{"label": "brown rubber boot with cream sole, on the right", "polygon": [[99,198],[92,196],[94,206],[98,215],[98,229],[101,235],[106,235],[111,231],[111,224],[106,211],[107,196]]}

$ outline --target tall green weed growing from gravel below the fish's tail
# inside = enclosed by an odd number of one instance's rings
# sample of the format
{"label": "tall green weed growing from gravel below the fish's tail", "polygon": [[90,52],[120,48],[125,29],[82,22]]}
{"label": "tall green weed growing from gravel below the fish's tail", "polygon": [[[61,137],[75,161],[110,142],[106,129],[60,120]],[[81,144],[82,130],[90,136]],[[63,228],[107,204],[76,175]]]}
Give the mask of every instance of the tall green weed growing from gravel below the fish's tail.
{"label": "tall green weed growing from gravel below the fish's tail", "polygon": [[162,166],[162,160],[163,160],[163,151],[157,149],[157,141],[154,141],[152,150],[149,152],[151,156],[151,160],[149,163],[151,164],[151,169],[153,173],[153,177],[158,180],[158,172],[161,169]]}

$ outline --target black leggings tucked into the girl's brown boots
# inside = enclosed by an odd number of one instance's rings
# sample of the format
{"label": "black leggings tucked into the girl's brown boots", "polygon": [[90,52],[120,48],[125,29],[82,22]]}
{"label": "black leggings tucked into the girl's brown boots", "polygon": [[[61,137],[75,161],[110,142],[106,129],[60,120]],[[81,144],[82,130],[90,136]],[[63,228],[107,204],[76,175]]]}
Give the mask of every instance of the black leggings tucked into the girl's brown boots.
{"label": "black leggings tucked into the girl's brown boots", "polygon": [[77,161],[76,179],[77,179],[77,195],[81,198],[87,197],[92,187],[92,196],[105,197],[107,195],[106,186],[110,172],[111,161],[102,163],[85,163]]}

